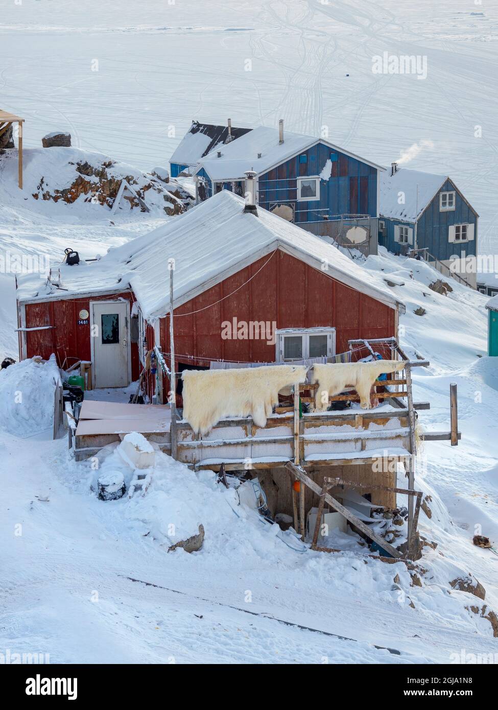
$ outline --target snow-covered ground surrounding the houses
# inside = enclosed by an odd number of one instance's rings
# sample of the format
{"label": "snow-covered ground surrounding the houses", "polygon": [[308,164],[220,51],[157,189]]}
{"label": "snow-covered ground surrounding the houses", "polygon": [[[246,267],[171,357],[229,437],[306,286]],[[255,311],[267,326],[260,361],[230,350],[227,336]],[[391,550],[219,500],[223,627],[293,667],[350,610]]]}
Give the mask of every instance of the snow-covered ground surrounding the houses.
{"label": "snow-covered ground surrounding the houses", "polygon": [[[67,130],[85,154],[150,173],[191,119],[227,117],[236,126],[283,117],[313,134],[325,126],[334,143],[381,164],[416,144],[405,164],[449,173],[480,212],[480,251],[498,253],[498,13],[489,0],[147,0],[139,21],[122,0],[57,7],[1,8],[0,108],[26,119],[28,149]],[[374,75],[372,56],[384,51],[426,55],[428,77]],[[0,175],[2,254],[48,254],[56,267],[67,246],[93,257],[175,219],[137,210],[109,219],[81,198],[35,200],[36,164],[26,165],[24,192]],[[401,563],[303,551],[213,474],[161,454],[144,498],[99,501],[90,463],[50,439],[45,366],[21,364],[0,372],[0,650],[100,663],[448,663],[462,650],[497,652],[489,621],[465,608],[482,601],[449,586],[472,574],[498,611],[498,557],[472,545],[481,528],[498,540],[498,369],[486,357],[486,299],[453,281],[453,293],[438,295],[431,268],[383,250],[365,268],[396,284],[407,307],[401,344],[431,361],[413,377],[416,400],[431,402],[423,427],[448,430],[449,384],[458,383],[462,440],[426,442],[416,479],[432,498],[421,532],[438,543],[424,548],[423,586],[411,586]],[[13,277],[0,273],[2,357],[17,356],[15,328]],[[34,419],[19,416],[19,391],[38,408]],[[112,450],[102,469],[129,476]],[[200,552],[167,552],[200,523]]]}

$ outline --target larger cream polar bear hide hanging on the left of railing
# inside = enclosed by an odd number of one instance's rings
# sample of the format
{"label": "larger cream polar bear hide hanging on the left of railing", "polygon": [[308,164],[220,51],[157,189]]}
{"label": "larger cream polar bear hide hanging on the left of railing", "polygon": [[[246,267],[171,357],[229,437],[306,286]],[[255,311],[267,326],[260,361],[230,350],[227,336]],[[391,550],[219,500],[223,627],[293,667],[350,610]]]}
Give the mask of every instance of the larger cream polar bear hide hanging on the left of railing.
{"label": "larger cream polar bear hide hanging on the left of railing", "polygon": [[274,365],[233,370],[185,370],[183,418],[195,433],[207,434],[223,417],[251,415],[258,427],[266,425],[278,403],[278,392],[304,382],[305,365]]}

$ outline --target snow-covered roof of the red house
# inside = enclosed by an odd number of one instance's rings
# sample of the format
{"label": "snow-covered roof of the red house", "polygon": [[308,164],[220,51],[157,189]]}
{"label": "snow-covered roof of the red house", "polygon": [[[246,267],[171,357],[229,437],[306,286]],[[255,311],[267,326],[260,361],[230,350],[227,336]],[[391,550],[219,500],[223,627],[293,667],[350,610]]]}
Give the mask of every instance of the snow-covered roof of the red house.
{"label": "snow-covered roof of the red house", "polygon": [[[110,249],[97,262],[62,265],[61,287],[47,293],[33,275],[18,279],[18,300],[50,300],[92,293],[134,291],[148,320],[169,310],[168,259],[175,260],[174,306],[179,307],[257,259],[281,249],[391,308],[404,305],[384,288],[372,284],[367,271],[331,244],[285,219],[258,208],[258,217],[244,213],[244,200],[222,190],[189,212]],[[53,273],[57,271],[55,266]],[[50,287],[48,287],[50,288]]]}

